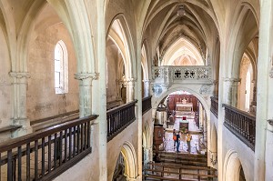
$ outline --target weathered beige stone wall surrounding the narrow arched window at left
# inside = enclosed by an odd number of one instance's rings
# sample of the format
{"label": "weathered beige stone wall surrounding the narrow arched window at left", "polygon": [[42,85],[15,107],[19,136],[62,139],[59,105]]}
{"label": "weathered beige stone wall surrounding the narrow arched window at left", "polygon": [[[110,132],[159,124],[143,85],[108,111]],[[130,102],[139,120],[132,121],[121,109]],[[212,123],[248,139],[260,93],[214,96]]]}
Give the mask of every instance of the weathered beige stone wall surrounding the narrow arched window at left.
{"label": "weathered beige stone wall surrounding the narrow arched window at left", "polygon": [[[55,46],[59,40],[66,44],[68,52],[68,93],[55,92]],[[30,121],[56,116],[78,109],[78,82],[76,55],[65,25],[58,23],[46,28],[29,44],[27,86],[27,116]]]}

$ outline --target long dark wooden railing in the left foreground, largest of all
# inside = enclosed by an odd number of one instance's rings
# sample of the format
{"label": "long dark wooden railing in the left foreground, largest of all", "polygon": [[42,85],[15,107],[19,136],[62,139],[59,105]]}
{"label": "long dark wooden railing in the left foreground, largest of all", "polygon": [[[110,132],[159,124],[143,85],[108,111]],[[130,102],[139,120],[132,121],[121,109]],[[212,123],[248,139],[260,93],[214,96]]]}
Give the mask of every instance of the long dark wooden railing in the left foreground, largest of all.
{"label": "long dark wooden railing in the left foreground, largest of all", "polygon": [[0,144],[2,180],[52,180],[91,153],[86,116]]}

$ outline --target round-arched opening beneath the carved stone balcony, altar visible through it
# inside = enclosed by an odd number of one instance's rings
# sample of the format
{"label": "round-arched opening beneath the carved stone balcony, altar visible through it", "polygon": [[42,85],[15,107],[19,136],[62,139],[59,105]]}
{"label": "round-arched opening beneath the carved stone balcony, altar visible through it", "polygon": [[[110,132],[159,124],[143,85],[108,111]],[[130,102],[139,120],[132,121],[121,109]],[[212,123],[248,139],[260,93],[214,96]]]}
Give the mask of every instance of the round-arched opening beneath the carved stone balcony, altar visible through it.
{"label": "round-arched opening beneath the carved stone balcony, altar visible through it", "polygon": [[[185,89],[189,90],[187,92]],[[167,152],[189,152],[189,153],[204,153],[206,152],[207,141],[207,102],[197,97],[198,95],[188,88],[169,89],[165,97],[160,96],[154,104],[154,115],[156,118],[155,124],[161,124],[165,128],[165,141],[163,146],[159,146],[159,150],[163,149]],[[192,94],[194,93],[194,94]],[[167,106],[167,117],[162,116],[162,105]],[[157,107],[156,107],[157,106]],[[163,117],[163,118],[162,118]],[[161,120],[167,119],[167,120]],[[173,131],[180,131],[182,142],[177,147],[173,140]],[[192,137],[187,140],[188,135]],[[205,135],[206,134],[206,135]],[[205,139],[206,137],[206,139]],[[210,136],[208,136],[210,137]],[[202,139],[202,144],[200,140]],[[171,144],[168,142],[172,142]],[[189,143],[188,143],[189,142]],[[204,144],[204,142],[206,142]],[[162,148],[163,147],[163,148]]]}

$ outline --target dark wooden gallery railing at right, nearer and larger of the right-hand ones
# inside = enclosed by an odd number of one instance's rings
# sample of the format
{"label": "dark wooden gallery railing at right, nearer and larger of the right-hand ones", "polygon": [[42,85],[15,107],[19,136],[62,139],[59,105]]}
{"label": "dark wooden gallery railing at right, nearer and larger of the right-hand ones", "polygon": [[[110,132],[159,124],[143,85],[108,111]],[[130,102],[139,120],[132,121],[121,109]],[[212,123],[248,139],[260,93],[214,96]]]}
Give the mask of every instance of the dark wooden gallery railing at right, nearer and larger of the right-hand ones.
{"label": "dark wooden gallery railing at right, nearer and larger of the right-hand ones", "polygon": [[249,146],[253,151],[255,148],[256,136],[256,116],[241,111],[235,107],[223,105],[225,107],[224,125],[234,135]]}

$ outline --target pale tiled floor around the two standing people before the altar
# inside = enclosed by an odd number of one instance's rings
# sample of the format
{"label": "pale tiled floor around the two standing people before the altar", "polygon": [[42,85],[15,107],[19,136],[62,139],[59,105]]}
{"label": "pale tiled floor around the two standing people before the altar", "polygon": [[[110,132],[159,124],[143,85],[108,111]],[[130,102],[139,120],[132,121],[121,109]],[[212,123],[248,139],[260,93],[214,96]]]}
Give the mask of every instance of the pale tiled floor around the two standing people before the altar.
{"label": "pale tiled floor around the two standing people before the altar", "polygon": [[[194,121],[194,118],[187,118],[189,121],[188,123],[188,131],[189,132],[197,132],[200,131]],[[167,131],[165,133],[165,151],[167,152],[176,152],[177,148],[174,147],[174,141],[173,141],[173,129],[179,130],[179,121],[176,119],[175,125],[174,126],[169,126],[167,128]],[[191,154],[197,154],[197,147],[198,147],[198,139],[199,135],[192,135],[192,140],[191,140]],[[181,153],[187,153],[187,135],[181,134],[181,141],[180,141],[180,146],[179,146],[179,151]],[[163,148],[164,149],[164,148]]]}

